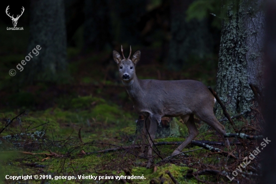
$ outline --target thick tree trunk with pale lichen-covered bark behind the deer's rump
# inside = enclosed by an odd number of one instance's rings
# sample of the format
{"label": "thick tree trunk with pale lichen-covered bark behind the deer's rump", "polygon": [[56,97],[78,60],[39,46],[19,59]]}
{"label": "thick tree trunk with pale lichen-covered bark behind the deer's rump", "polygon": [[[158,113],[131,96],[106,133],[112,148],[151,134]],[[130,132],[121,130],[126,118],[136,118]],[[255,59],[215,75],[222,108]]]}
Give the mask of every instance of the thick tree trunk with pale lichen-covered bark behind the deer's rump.
{"label": "thick tree trunk with pale lichen-covered bark behind the deer's rump", "polygon": [[[253,107],[249,84],[262,88],[263,0],[237,0],[223,3],[216,91],[232,116]],[[235,4],[236,3],[236,4]],[[256,101],[254,102],[256,104]],[[216,103],[216,116],[223,117]]]}

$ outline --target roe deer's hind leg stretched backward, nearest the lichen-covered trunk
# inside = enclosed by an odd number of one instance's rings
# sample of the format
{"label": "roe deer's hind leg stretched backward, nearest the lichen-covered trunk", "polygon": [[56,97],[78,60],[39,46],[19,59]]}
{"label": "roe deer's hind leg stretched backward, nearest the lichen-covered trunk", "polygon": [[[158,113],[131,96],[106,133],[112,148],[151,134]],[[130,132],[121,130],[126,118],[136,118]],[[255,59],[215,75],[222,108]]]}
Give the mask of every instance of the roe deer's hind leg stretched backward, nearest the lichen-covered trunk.
{"label": "roe deer's hind leg stretched backward, nearest the lichen-covered trunk", "polygon": [[225,127],[215,117],[213,109],[209,112],[199,113],[197,116],[200,118],[200,120],[206,122],[209,126],[217,130],[217,132],[222,136],[225,146],[230,147],[228,138],[223,136],[226,134]]}

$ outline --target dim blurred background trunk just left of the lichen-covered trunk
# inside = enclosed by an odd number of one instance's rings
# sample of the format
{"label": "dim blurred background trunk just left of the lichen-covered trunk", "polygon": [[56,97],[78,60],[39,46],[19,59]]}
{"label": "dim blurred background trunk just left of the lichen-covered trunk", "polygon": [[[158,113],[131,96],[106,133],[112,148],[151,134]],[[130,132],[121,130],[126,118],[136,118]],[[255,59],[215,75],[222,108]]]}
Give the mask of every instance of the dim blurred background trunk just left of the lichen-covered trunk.
{"label": "dim blurred background trunk just left of the lichen-covered trunk", "polygon": [[204,57],[213,51],[212,34],[207,18],[186,22],[186,10],[193,0],[171,0],[171,41],[168,67],[187,66],[189,56]]}

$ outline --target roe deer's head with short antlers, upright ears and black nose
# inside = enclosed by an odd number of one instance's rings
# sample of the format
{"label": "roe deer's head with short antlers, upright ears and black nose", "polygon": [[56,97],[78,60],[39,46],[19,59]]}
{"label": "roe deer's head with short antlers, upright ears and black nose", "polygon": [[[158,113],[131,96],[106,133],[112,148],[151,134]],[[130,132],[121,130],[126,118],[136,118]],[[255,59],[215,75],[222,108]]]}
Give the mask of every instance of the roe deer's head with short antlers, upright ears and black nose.
{"label": "roe deer's head with short antlers, upright ears and black nose", "polygon": [[121,47],[121,50],[122,50],[123,59],[119,54],[119,52],[117,52],[116,50],[113,50],[113,59],[118,65],[120,78],[124,82],[129,82],[133,79],[135,75],[135,66],[136,66],[136,63],[140,60],[141,51],[137,50],[133,54],[132,58],[130,59],[130,55],[131,55],[131,46],[130,46],[129,56],[126,59],[123,55],[122,47]]}

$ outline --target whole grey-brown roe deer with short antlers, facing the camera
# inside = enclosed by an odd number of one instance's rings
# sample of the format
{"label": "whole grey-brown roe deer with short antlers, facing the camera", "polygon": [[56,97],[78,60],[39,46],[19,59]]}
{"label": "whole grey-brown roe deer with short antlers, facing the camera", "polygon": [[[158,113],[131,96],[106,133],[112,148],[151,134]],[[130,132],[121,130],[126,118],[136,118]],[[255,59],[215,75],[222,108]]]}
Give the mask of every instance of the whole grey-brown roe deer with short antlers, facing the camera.
{"label": "whole grey-brown roe deer with short antlers, facing the camera", "polygon": [[225,127],[216,119],[213,112],[216,99],[206,85],[196,80],[141,80],[135,74],[135,66],[140,60],[140,50],[133,54],[131,60],[131,47],[127,59],[123,55],[122,47],[121,51],[123,59],[116,50],[113,51],[119,76],[134,104],[134,109],[145,116],[142,152],[144,152],[146,135],[149,131],[151,138],[148,138],[150,142],[148,155],[152,155],[152,140],[162,116],[180,116],[189,130],[189,136],[172,155],[181,152],[198,135],[194,114],[217,130],[225,145],[230,146],[228,139],[223,137],[226,134]]}

